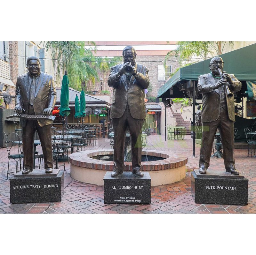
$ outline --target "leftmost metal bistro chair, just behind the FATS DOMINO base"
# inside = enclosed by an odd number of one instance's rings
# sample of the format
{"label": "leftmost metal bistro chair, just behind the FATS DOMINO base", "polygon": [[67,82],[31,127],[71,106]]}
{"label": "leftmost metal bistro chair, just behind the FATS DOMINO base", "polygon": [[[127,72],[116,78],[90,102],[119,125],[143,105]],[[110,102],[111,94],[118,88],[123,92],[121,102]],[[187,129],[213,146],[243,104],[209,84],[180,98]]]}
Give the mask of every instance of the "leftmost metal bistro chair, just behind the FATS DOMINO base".
{"label": "leftmost metal bistro chair, just behind the FATS DOMINO base", "polygon": [[7,135],[6,135],[6,133],[3,133],[3,139],[4,139],[4,143],[5,143],[7,152],[8,152],[8,169],[7,169],[7,179],[8,179],[10,159],[13,159],[16,161],[16,173],[17,173],[18,163],[20,163],[20,171],[21,171],[21,159],[24,158],[24,155],[21,153],[20,143],[17,143],[17,148],[15,148],[14,142],[20,141],[20,137],[17,133],[11,132]]}

